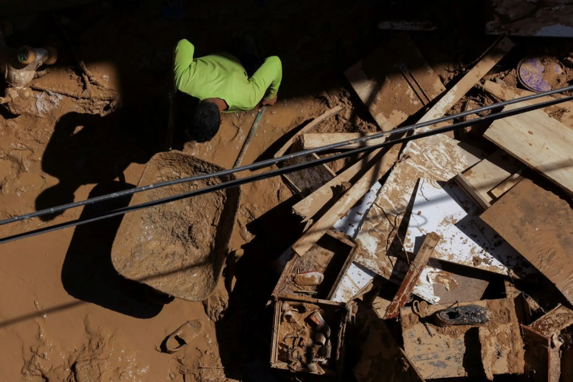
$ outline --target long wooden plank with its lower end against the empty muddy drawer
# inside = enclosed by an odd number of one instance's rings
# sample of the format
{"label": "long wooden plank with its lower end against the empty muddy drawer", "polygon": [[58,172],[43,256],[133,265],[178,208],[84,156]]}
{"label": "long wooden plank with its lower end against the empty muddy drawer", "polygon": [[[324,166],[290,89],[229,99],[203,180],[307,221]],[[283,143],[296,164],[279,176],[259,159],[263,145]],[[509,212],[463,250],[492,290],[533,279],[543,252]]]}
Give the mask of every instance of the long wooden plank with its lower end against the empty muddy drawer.
{"label": "long wooden plank with its lower end against the empty muddy drawer", "polygon": [[370,187],[372,187],[374,183],[378,182],[383,174],[394,166],[392,159],[398,156],[398,151],[399,147],[397,145],[391,147],[388,151],[392,154],[388,156],[390,157],[390,161],[384,160],[384,157],[387,157],[387,155],[383,155],[382,160],[375,163],[342,198],[337,200],[336,203],[292,245],[292,249],[300,256],[303,256],[326,231],[332,228],[337,220],[342,218],[342,216],[370,190]]}

